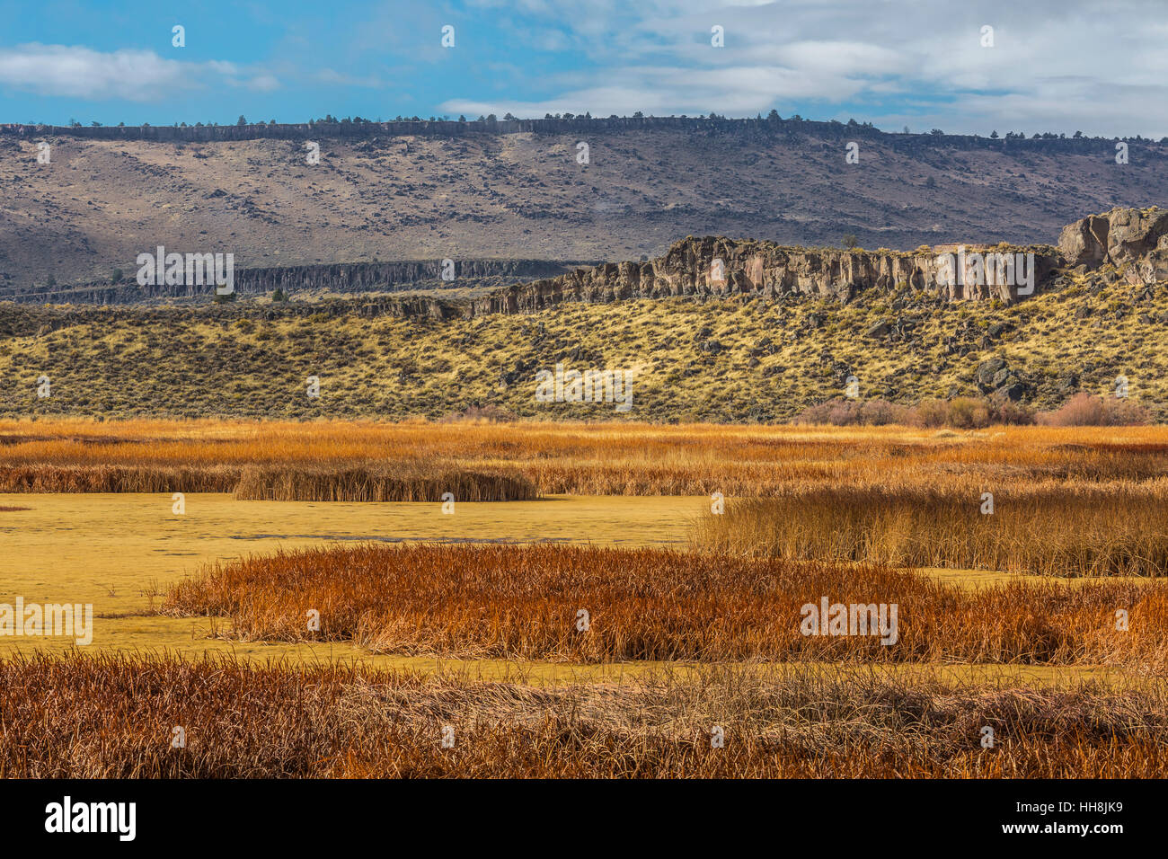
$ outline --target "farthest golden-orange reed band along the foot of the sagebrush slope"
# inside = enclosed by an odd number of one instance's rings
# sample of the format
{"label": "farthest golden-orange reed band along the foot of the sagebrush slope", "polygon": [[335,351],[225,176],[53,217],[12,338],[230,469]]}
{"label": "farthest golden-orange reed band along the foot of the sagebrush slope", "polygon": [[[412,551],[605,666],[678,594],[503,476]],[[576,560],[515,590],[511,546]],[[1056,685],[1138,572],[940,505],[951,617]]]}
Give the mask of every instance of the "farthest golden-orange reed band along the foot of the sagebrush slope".
{"label": "farthest golden-orange reed band along the foot of the sagebrush slope", "polygon": [[[0,421],[2,492],[236,491],[250,469],[272,483],[251,483],[245,497],[296,500],[397,473],[493,474],[538,494],[591,496],[1073,486],[1168,478],[1168,428]],[[283,477],[297,472],[314,477]]]}

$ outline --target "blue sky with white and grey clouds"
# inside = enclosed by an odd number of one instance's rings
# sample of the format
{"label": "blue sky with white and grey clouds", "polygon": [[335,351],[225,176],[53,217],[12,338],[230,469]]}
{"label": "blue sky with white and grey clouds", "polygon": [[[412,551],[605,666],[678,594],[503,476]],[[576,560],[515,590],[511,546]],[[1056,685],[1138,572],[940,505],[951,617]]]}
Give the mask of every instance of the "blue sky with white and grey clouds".
{"label": "blue sky with white and grey clouds", "polygon": [[1168,136],[1168,0],[0,0],[0,123],[773,109]]}

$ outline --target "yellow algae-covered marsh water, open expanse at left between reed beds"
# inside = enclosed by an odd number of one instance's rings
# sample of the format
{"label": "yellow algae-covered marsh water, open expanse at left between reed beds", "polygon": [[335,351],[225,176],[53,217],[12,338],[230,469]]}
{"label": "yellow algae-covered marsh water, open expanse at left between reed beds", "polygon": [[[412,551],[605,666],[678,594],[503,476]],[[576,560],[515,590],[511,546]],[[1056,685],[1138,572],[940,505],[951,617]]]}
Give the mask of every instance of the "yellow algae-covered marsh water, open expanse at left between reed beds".
{"label": "yellow algae-covered marsh water, open expanse at left between reed beds", "polygon": [[[152,587],[202,563],[334,541],[579,542],[682,547],[704,498],[554,496],[538,501],[348,504],[239,501],[188,493],[186,513],[158,494],[0,494],[0,603],[92,604],[85,650],[228,651],[257,657],[364,658],[348,645],[264,645],[209,638],[207,618],[148,614]],[[222,628],[223,622],[218,622]],[[0,637],[13,650],[63,650],[71,638]],[[433,659],[378,657],[387,664]]]}

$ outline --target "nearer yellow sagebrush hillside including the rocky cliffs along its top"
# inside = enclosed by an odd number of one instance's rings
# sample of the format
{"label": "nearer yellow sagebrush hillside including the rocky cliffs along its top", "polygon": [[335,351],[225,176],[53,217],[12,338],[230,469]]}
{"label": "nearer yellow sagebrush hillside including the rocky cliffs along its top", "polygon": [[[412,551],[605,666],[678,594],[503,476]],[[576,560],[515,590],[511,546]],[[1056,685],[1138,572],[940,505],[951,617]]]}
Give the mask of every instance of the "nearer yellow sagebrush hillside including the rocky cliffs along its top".
{"label": "nearer yellow sagebrush hillside including the rocky cliffs along its top", "polygon": [[[938,250],[686,238],[645,263],[481,296],[0,303],[0,414],[399,418],[494,407],[778,421],[839,397],[853,376],[861,399],[1038,408],[1110,393],[1122,376],[1131,402],[1166,415],[1168,210],[1115,208],[1066,224],[1058,247],[1027,251],[1040,276],[1024,297],[946,284]],[[541,400],[541,375],[570,370],[618,372],[633,399]]]}

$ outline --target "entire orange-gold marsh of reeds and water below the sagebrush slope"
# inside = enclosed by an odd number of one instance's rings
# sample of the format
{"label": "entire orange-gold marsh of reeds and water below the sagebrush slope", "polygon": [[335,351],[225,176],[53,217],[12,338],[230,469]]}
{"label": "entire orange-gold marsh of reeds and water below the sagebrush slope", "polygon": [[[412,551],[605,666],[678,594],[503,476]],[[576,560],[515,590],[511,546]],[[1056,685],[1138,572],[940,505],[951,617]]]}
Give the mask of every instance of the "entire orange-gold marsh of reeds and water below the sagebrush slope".
{"label": "entire orange-gold marsh of reeds and water below the sagebrush slope", "polygon": [[96,608],[0,640],[0,776],[1168,774],[1162,428],[11,421],[0,489],[0,603]]}

